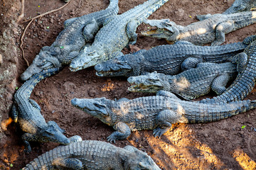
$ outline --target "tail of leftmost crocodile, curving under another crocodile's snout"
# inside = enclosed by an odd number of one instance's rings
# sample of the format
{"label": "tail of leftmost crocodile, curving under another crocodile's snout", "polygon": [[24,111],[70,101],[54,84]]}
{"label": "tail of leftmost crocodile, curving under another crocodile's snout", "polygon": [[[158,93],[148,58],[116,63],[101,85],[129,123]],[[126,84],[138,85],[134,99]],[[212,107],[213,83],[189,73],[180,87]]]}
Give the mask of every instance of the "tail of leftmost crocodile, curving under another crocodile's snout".
{"label": "tail of leftmost crocodile, curving under another crocodile's snout", "polygon": [[33,75],[30,79],[28,79],[16,92],[14,97],[21,95],[25,98],[29,98],[31,96],[31,93],[42,79],[46,79],[47,77],[53,76],[54,74],[57,74],[60,72],[60,68],[53,68],[53,69],[46,69],[43,70],[43,72],[39,72],[38,74]]}

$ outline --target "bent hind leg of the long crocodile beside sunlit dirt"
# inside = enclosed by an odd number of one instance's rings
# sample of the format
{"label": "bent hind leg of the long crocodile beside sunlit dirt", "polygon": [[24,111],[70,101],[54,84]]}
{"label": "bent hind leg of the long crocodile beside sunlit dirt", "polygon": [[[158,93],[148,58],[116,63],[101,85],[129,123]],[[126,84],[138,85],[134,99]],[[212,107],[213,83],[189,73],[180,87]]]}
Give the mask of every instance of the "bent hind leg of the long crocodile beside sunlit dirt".
{"label": "bent hind leg of the long crocodile beside sunlit dirt", "polygon": [[157,128],[153,130],[154,137],[161,137],[165,132],[171,129],[172,123],[178,122],[181,115],[175,111],[164,110],[156,117]]}

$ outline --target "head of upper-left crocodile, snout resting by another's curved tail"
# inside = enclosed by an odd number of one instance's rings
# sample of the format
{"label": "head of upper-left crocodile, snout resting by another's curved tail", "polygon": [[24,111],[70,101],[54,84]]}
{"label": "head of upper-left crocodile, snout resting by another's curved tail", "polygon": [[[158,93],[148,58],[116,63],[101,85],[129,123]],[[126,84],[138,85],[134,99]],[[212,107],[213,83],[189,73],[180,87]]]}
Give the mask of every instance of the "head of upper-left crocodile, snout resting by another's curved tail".
{"label": "head of upper-left crocodile, snout resting by another's curved tail", "polygon": [[37,74],[46,69],[61,67],[60,62],[57,59],[59,54],[58,48],[42,47],[41,51],[33,60],[33,63],[21,74],[21,80],[26,81],[33,74]]}

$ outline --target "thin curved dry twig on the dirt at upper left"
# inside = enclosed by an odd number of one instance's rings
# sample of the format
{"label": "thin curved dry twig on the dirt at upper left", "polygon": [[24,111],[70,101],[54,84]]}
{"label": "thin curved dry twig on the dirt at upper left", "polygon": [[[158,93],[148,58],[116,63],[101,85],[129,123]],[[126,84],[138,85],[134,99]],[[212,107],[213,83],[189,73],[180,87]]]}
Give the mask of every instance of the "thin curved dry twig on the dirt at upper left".
{"label": "thin curved dry twig on the dirt at upper left", "polygon": [[[72,1],[72,0],[70,0],[70,1]],[[24,21],[24,22],[28,22],[28,21],[30,21],[30,22],[28,23],[28,25],[26,26],[26,28],[24,29],[24,31],[23,31],[23,33],[22,33],[22,35],[21,35],[20,48],[21,48],[21,51],[22,51],[22,57],[23,57],[23,59],[26,61],[26,64],[27,64],[28,66],[29,66],[29,63],[28,63],[28,60],[26,60],[26,58],[25,58],[25,56],[24,56],[24,50],[23,50],[23,47],[22,47],[22,45],[23,45],[23,38],[24,38],[24,35],[25,35],[25,33],[26,33],[26,30],[28,29],[28,27],[31,25],[31,23],[32,23],[35,19],[41,18],[41,17],[43,17],[43,16],[46,16],[46,15],[49,14],[49,13],[53,13],[53,12],[55,12],[55,11],[59,11],[60,9],[64,8],[65,6],[67,6],[67,5],[70,3],[70,1],[68,1],[67,4],[61,6],[60,8],[53,9],[52,11],[48,11],[48,12],[46,12],[46,13],[42,13],[42,14],[40,14],[39,16],[35,16],[35,17],[31,18],[31,19],[28,19],[27,21]],[[24,0],[22,0],[22,6],[24,6]],[[23,8],[23,7],[22,7],[22,8]],[[21,15],[22,15],[22,14],[21,14]]]}

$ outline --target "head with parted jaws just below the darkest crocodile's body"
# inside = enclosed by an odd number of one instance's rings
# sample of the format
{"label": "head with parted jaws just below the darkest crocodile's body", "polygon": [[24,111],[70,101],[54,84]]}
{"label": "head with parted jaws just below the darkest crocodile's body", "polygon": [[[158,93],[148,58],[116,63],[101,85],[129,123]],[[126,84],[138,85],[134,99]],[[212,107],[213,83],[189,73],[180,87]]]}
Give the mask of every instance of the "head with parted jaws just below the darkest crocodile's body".
{"label": "head with parted jaws just below the darkest crocodile's body", "polygon": [[131,86],[129,86],[128,90],[156,93],[157,91],[163,90],[165,86],[169,86],[168,80],[166,80],[165,77],[165,74],[157,72],[152,72],[138,77],[129,77],[127,81]]}

